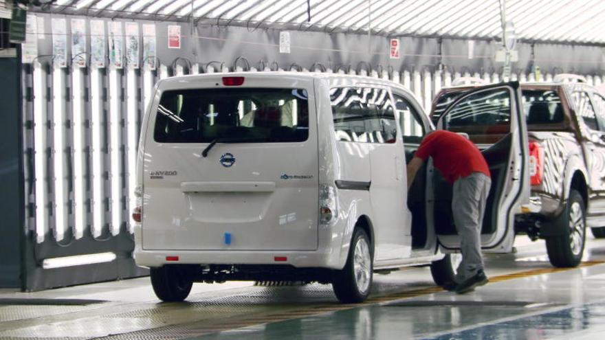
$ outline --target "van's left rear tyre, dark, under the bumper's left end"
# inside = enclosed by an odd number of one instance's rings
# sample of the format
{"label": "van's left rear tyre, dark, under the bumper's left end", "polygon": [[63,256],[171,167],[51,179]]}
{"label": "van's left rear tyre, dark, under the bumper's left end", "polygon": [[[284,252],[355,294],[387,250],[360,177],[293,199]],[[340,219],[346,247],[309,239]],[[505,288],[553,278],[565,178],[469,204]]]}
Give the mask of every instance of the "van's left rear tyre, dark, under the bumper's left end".
{"label": "van's left rear tyre, dark, under the bumper's left end", "polygon": [[183,268],[163,266],[151,269],[151,286],[158,299],[164,302],[178,302],[189,295],[193,281]]}

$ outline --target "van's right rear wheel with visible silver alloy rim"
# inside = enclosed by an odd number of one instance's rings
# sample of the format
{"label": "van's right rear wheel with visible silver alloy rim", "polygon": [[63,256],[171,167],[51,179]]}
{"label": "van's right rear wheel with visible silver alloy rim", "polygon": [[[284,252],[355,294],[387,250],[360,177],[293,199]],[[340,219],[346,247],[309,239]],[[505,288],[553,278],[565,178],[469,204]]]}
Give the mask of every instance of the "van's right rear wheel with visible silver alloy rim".
{"label": "van's right rear wheel with visible silver alloy rim", "polygon": [[340,271],[333,271],[332,288],[338,300],[344,304],[363,302],[370,294],[373,263],[368,234],[356,228],[351,238],[347,264]]}

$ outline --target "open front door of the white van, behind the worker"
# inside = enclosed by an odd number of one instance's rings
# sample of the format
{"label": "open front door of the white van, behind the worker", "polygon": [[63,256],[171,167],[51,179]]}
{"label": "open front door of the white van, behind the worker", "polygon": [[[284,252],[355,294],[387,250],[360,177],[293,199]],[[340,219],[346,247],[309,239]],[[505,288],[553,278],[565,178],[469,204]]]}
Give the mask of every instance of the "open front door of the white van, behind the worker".
{"label": "open front door of the white van, behind the worker", "polygon": [[[529,199],[528,141],[518,82],[477,87],[459,96],[439,117],[438,130],[465,133],[478,146],[492,174],[481,246],[492,252],[511,251],[514,215]],[[459,249],[452,218],[452,185],[434,169],[428,209],[439,242]]]}

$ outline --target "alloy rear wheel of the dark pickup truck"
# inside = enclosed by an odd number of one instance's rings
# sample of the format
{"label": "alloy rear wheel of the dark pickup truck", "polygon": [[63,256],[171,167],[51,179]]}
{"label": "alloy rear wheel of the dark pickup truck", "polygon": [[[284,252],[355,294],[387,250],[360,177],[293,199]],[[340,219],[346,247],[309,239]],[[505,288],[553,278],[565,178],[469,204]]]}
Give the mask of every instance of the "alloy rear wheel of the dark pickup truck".
{"label": "alloy rear wheel of the dark pickup truck", "polygon": [[571,190],[567,206],[555,223],[563,234],[546,238],[549,260],[555,267],[575,267],[582,260],[586,241],[584,201],[577,190]]}

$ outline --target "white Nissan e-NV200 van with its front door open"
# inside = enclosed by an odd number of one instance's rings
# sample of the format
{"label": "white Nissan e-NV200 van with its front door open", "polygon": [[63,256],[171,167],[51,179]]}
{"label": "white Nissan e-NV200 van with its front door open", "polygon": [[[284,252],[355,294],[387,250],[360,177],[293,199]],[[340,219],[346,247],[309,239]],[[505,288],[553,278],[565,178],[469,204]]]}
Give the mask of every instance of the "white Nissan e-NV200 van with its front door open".
{"label": "white Nissan e-NV200 van with its front door open", "polygon": [[375,78],[160,80],[142,122],[135,260],[164,301],[185,299],[192,282],[287,280],[361,302],[374,271],[421,264],[443,284],[454,263],[433,227],[432,168],[409,202],[406,189],[406,159],[430,129],[409,91]]}

